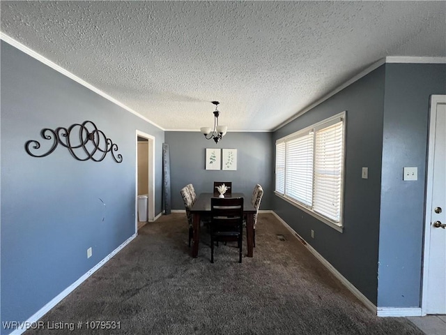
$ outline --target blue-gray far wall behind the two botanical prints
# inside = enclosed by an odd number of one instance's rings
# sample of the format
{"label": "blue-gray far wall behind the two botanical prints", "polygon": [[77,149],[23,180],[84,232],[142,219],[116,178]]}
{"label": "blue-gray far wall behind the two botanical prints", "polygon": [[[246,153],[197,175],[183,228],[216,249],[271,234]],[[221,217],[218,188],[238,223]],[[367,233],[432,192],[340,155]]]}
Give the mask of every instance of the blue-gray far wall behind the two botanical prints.
{"label": "blue-gray far wall behind the two botanical prints", "polygon": [[[251,200],[256,184],[265,193],[260,209],[271,209],[272,133],[227,133],[220,142],[197,132],[165,133],[170,148],[172,209],[184,209],[180,189],[192,183],[198,193],[212,192],[214,181],[232,181],[233,192]],[[205,170],[206,148],[237,149],[237,170]]]}

